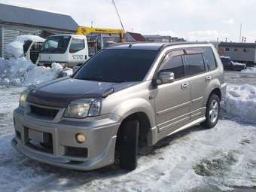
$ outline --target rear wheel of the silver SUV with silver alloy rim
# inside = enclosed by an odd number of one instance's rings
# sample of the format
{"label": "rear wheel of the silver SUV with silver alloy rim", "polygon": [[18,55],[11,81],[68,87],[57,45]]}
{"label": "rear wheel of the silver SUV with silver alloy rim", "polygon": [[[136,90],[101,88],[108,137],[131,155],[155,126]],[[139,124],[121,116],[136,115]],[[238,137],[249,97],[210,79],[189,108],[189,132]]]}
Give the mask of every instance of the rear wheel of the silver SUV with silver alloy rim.
{"label": "rear wheel of the silver SUV with silver alloy rim", "polygon": [[204,128],[210,129],[218,123],[220,116],[220,99],[217,95],[209,96],[206,105],[206,120],[201,124]]}

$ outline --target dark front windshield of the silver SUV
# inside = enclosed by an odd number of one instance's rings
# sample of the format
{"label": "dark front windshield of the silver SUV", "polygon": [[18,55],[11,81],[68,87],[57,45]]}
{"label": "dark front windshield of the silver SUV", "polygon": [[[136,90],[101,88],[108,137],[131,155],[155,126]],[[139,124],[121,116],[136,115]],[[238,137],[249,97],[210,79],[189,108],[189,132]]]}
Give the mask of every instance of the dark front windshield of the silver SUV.
{"label": "dark front windshield of the silver SUV", "polygon": [[102,50],[73,78],[102,82],[142,81],[157,56],[157,50]]}

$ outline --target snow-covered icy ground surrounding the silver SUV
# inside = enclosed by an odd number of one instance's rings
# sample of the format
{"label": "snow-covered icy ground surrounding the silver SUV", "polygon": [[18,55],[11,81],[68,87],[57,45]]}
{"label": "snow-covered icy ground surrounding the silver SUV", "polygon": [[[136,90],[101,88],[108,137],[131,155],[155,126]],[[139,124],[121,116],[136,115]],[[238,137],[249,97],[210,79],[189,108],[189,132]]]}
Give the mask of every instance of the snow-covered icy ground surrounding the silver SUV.
{"label": "snow-covered icy ground surrounding the silver SUV", "polygon": [[[0,87],[0,191],[256,191],[256,124],[241,116],[254,101],[256,75],[228,72],[227,99],[217,126],[194,126],[140,148],[133,172],[108,166],[79,172],[48,166],[15,151],[12,111],[23,87]],[[242,85],[241,84],[248,84]],[[226,103],[225,103],[226,102]],[[227,107],[228,106],[228,107]],[[231,111],[244,110],[232,114]],[[252,112],[251,112],[252,114]],[[256,115],[256,114],[255,114]],[[256,117],[255,117],[256,119]]]}

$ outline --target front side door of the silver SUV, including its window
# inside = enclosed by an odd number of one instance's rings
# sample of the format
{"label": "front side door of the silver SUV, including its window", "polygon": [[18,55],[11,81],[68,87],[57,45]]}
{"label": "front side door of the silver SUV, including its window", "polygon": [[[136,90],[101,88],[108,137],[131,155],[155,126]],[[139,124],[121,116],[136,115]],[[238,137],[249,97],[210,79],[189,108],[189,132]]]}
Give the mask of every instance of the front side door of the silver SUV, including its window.
{"label": "front side door of the silver SUV, including its window", "polygon": [[186,79],[183,50],[166,53],[157,75],[160,72],[173,72],[175,81],[158,84],[154,89],[156,123],[158,131],[178,129],[190,120],[190,85]]}

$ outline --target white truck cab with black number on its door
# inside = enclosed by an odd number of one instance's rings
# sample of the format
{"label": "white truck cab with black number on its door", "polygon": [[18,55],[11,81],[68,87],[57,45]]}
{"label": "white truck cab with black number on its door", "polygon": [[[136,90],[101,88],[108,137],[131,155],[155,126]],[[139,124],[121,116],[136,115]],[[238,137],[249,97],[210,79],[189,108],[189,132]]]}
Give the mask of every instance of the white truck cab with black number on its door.
{"label": "white truck cab with black number on its door", "polygon": [[52,35],[47,37],[39,54],[39,65],[50,66],[59,62],[62,66],[81,65],[89,58],[87,38],[84,35]]}

